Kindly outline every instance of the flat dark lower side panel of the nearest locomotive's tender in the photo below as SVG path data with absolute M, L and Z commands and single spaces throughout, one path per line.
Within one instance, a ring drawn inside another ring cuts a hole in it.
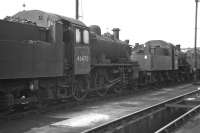
M 62 45 L 0 41 L 0 79 L 61 76 L 62 54 Z

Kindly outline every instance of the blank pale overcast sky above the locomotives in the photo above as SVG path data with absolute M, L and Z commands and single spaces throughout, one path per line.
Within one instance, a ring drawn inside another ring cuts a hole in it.
M 120 39 L 131 44 L 159 39 L 182 47 L 194 46 L 195 0 L 79 0 L 80 18 L 99 25 L 102 32 L 120 28 Z M 18 11 L 37 9 L 75 17 L 75 0 L 2 0 L 0 18 Z M 82 3 L 82 4 L 81 4 Z M 200 7 L 200 3 L 199 3 Z M 199 8 L 200 10 L 200 8 Z M 199 11 L 200 26 L 200 11 Z M 200 46 L 200 30 L 198 30 Z

